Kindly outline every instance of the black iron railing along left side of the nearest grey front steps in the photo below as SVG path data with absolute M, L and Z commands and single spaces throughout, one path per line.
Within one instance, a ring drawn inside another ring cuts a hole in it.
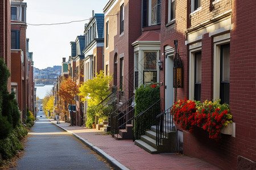
M 146 111 L 137 114 L 133 121 L 134 141 L 141 138 L 147 129 L 156 124 L 156 116 L 161 113 L 160 100 L 156 101 Z

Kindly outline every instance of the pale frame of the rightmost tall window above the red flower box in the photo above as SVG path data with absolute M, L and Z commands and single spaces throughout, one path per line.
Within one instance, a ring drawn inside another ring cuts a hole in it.
M 213 99 L 220 99 L 221 45 L 230 43 L 230 33 L 213 37 Z

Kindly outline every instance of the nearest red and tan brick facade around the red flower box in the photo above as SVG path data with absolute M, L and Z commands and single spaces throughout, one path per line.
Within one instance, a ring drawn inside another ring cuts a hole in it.
M 222 44 L 230 44 L 229 105 L 236 124 L 235 137 L 222 135 L 222 139 L 216 142 L 209 139 L 203 129 L 197 128 L 193 133 L 183 131 L 183 153 L 222 169 L 240 169 L 242 160 L 238 160 L 238 156 L 256 161 L 256 2 L 215 2 L 202 1 L 201 9 L 191 13 L 191 1 L 176 1 L 176 21 L 168 24 L 168 1 L 162 1 L 161 54 L 166 45 L 174 47 L 174 40 L 178 40 L 178 50 L 184 65 L 184 87 L 178 89 L 177 100 L 189 98 L 189 57 L 193 45 L 197 45 L 202 56 L 201 101 L 212 100 L 216 95 L 214 53 L 217 46 L 214 44 L 217 44 L 218 39 L 224 40 L 225 36 L 230 35 Z M 187 8 L 187 12 L 184 12 L 184 8 Z M 209 20 L 216 28 L 207 23 Z M 164 55 L 161 55 L 161 59 L 165 61 Z M 166 76 L 163 70 L 160 82 L 164 82 Z M 163 86 L 160 93 L 163 98 L 166 97 Z M 177 129 L 182 130 L 179 125 Z

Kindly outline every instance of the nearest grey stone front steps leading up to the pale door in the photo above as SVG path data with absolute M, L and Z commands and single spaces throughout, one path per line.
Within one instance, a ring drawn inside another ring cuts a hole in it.
M 143 148 L 150 154 L 176 152 L 177 151 L 176 131 L 167 133 L 167 138 L 161 139 L 160 145 L 156 146 L 156 127 L 151 126 L 151 130 L 147 130 L 140 140 L 135 140 L 135 145 Z

